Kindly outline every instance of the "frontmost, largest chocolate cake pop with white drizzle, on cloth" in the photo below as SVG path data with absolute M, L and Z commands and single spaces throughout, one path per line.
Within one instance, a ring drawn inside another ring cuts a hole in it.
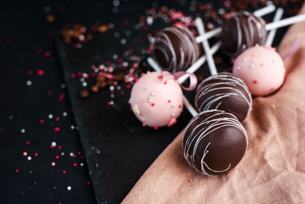
M 198 172 L 214 176 L 228 172 L 244 157 L 248 136 L 230 113 L 209 110 L 187 125 L 183 137 L 184 157 Z

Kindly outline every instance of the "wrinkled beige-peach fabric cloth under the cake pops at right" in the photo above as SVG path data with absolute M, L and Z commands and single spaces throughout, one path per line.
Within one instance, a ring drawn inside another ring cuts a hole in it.
M 182 132 L 123 203 L 305 203 L 305 22 L 290 27 L 279 51 L 285 53 L 297 37 L 301 45 L 285 60 L 282 88 L 253 100 L 244 122 L 248 150 L 234 169 L 214 177 L 196 172 L 184 159 Z

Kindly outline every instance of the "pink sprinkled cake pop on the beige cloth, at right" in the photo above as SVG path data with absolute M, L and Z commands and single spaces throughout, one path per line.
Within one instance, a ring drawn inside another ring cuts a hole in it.
M 255 96 L 266 96 L 279 89 L 285 73 L 281 56 L 274 48 L 267 46 L 248 48 L 233 65 L 233 74 L 244 80 Z

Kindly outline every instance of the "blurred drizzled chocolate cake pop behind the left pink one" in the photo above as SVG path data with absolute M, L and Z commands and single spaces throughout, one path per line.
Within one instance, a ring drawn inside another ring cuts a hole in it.
M 201 55 L 191 31 L 177 27 L 167 27 L 156 34 L 152 54 L 163 70 L 172 72 L 187 69 Z

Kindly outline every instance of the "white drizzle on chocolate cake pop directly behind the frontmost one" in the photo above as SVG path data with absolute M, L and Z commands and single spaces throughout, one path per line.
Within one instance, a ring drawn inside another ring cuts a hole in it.
M 212 82 L 213 80 L 220 80 L 221 82 Z M 220 87 L 217 87 L 220 86 Z M 211 92 L 223 90 L 222 93 L 211 94 Z M 227 90 L 225 92 L 225 90 Z M 243 90 L 243 91 L 241 91 Z M 205 99 L 206 95 L 211 96 Z M 221 72 L 218 75 L 210 76 L 201 82 L 196 90 L 195 107 L 199 112 L 209 110 L 211 106 L 218 107 L 220 100 L 224 98 L 236 96 L 241 97 L 248 103 L 248 112 L 246 118 L 252 110 L 252 97 L 247 85 L 238 77 L 231 73 Z M 204 99 L 204 101 L 202 101 Z

